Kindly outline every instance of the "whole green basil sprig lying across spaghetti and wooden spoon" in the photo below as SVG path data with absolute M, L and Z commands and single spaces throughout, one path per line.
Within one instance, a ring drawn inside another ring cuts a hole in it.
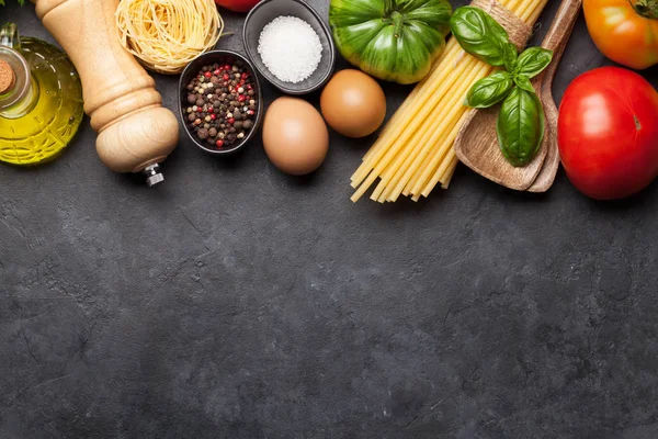
M 544 139 L 544 109 L 531 78 L 540 75 L 553 60 L 553 52 L 530 47 L 521 55 L 507 31 L 479 8 L 455 10 L 450 29 L 468 54 L 494 67 L 504 67 L 477 81 L 468 91 L 465 104 L 487 109 L 502 102 L 497 134 L 502 155 L 512 166 L 532 161 Z

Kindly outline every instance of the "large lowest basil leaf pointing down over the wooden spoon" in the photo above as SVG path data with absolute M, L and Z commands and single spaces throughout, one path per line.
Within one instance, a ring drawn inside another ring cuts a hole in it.
M 525 166 L 537 154 L 544 139 L 544 109 L 537 95 L 514 87 L 502 102 L 498 115 L 498 143 L 513 166 Z

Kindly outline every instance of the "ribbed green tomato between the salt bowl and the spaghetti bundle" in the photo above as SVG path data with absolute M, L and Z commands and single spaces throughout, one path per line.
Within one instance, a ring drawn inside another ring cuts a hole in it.
M 413 83 L 445 48 L 449 0 L 331 0 L 336 46 L 352 65 L 376 78 Z

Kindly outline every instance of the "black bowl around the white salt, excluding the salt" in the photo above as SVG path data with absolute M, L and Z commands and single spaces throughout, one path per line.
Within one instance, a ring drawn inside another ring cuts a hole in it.
M 284 82 L 268 70 L 258 53 L 258 41 L 263 27 L 280 15 L 296 16 L 307 22 L 320 37 L 322 59 L 317 70 L 306 80 L 297 83 Z M 245 20 L 242 31 L 245 49 L 260 74 L 279 90 L 288 94 L 306 94 L 322 87 L 333 72 L 336 46 L 329 27 L 320 15 L 303 0 L 263 0 L 256 5 Z

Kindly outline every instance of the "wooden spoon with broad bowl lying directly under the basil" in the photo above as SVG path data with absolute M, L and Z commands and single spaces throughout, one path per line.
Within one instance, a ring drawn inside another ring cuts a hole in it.
M 581 3 L 582 0 L 563 0 L 553 24 L 544 38 L 542 47 L 548 50 L 558 52 L 559 48 L 563 48 L 563 46 L 566 45 L 566 42 L 574 30 L 574 23 L 580 11 Z M 558 56 L 554 57 L 552 65 L 557 65 L 559 63 L 561 53 L 556 55 Z M 552 71 L 551 76 L 546 75 L 548 71 Z M 532 80 L 533 87 L 540 99 L 543 101 L 545 109 L 547 106 L 546 102 L 544 102 L 546 95 L 542 93 L 542 90 L 551 90 L 555 71 L 555 69 L 548 67 Z M 553 98 L 549 98 L 548 103 L 555 106 Z M 557 117 L 554 121 L 555 123 L 552 123 L 551 121 L 546 122 L 546 135 L 544 136 L 544 142 L 535 158 L 527 166 L 513 167 L 506 160 L 500 151 L 500 146 L 498 145 L 496 123 L 499 111 L 499 105 L 486 110 L 473 110 L 455 139 L 455 153 L 464 165 L 468 166 L 480 176 L 506 188 L 525 191 L 537 179 L 548 150 L 553 148 L 549 144 L 554 143 L 554 147 L 557 149 L 557 138 L 555 135 Z M 555 158 L 552 157 L 552 159 Z M 547 178 L 543 179 L 545 182 L 548 180 L 549 179 Z M 545 187 L 546 183 L 542 185 Z

